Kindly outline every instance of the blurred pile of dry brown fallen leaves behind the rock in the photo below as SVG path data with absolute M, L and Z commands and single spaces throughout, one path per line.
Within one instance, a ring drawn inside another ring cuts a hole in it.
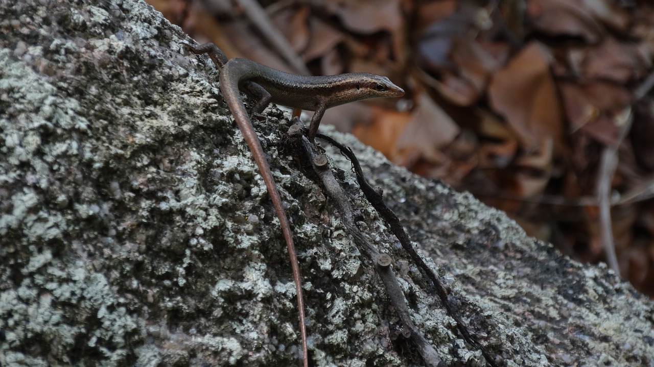
M 389 159 L 654 296 L 654 5 L 637 0 L 148 0 L 228 57 L 374 72 L 328 110 Z

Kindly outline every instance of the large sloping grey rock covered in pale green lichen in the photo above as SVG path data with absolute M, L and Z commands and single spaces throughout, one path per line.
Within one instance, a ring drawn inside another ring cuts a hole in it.
M 266 187 L 216 71 L 141 1 L 0 2 L 0 366 L 300 365 Z M 385 290 L 285 144 L 256 121 L 300 255 L 316 366 L 421 365 Z M 505 366 L 654 366 L 650 300 L 351 136 L 471 332 Z M 330 154 L 449 366 L 483 366 Z

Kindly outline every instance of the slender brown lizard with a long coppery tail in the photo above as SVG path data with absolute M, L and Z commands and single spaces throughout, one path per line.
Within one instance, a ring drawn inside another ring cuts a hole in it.
M 254 131 L 249 115 L 245 110 L 240 91 L 250 97 L 258 98 L 252 108 L 253 113 L 260 113 L 269 103 L 282 104 L 300 110 L 315 111 L 309 123 L 308 138 L 313 142 L 318 132 L 318 125 L 327 108 L 354 101 L 377 97 L 401 97 L 404 90 L 388 80 L 386 76 L 368 72 L 351 72 L 328 76 L 305 76 L 279 71 L 249 59 L 227 59 L 215 44 L 209 42 L 193 46 L 183 42 L 194 54 L 207 54 L 220 69 L 220 92 L 230 108 L 230 112 L 239 127 L 254 161 L 259 168 L 266 189 L 277 212 L 288 255 L 290 257 L 296 298 L 300 318 L 303 364 L 308 367 L 307 332 L 305 327 L 304 302 L 302 297 L 300 265 L 296 255 L 293 235 L 290 230 L 286 212 L 273 174 L 266 161 L 266 155 L 259 138 Z

